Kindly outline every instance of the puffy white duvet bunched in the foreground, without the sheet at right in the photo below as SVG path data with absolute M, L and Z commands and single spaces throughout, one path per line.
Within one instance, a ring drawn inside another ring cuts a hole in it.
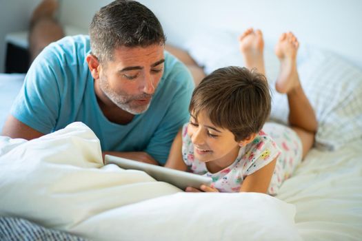
M 142 171 L 103 167 L 81 123 L 0 139 L 0 214 L 94 240 L 299 240 L 294 205 L 258 193 L 183 193 Z M 283 232 L 278 230 L 283 229 Z

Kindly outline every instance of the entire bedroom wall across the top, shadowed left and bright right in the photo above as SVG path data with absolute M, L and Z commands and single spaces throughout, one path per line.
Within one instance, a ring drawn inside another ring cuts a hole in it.
M 0 0 L 0 72 L 6 32 L 26 30 L 40 0 Z M 88 29 L 94 12 L 111 0 L 62 0 L 61 22 Z M 360 0 L 140 0 L 159 17 L 168 41 L 183 46 L 203 28 L 242 32 L 253 26 L 276 39 L 292 30 L 301 44 L 333 50 L 362 67 Z

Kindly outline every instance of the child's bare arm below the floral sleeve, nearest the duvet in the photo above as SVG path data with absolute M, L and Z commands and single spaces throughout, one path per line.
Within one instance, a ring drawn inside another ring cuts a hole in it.
M 276 158 L 243 180 L 240 191 L 266 193 L 272 179 Z

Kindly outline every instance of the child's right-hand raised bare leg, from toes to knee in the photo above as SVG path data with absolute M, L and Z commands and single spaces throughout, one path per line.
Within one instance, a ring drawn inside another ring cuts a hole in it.
M 301 138 L 304 157 L 314 143 L 317 122 L 296 70 L 298 47 L 299 42 L 291 32 L 282 34 L 279 43 L 276 44 L 275 53 L 281 61 L 276 90 L 288 96 L 289 123 Z

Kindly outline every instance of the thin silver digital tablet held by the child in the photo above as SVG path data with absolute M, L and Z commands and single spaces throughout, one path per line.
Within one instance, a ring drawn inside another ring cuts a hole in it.
M 161 182 L 168 182 L 182 190 L 185 190 L 186 187 L 200 189 L 201 185 L 205 184 L 210 186 L 212 182 L 212 178 L 207 176 L 200 176 L 186 171 L 170 169 L 168 167 L 141 163 L 136 160 L 120 158 L 118 156 L 105 155 L 104 163 L 115 164 L 123 169 L 145 171 L 148 175 L 152 176 L 152 178 Z

